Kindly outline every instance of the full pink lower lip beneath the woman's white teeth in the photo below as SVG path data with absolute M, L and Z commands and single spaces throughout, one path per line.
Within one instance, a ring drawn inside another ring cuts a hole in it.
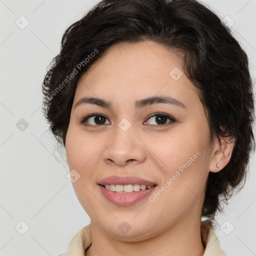
M 113 192 L 113 191 L 107 190 L 103 185 L 99 185 L 99 187 L 101 189 L 102 194 L 110 202 L 121 205 L 121 206 L 128 206 L 128 205 L 134 204 L 135 202 L 149 195 L 155 189 L 156 186 L 152 186 L 149 189 L 134 191 L 130 193 Z

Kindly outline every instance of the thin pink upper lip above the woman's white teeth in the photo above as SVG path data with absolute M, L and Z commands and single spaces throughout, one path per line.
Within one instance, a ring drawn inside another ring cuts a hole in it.
M 99 185 L 107 185 L 107 184 L 120 184 L 120 185 L 128 185 L 128 184 L 140 184 L 140 185 L 157 185 L 156 182 L 151 182 L 149 180 L 135 177 L 135 176 L 108 176 L 100 181 L 98 181 Z

